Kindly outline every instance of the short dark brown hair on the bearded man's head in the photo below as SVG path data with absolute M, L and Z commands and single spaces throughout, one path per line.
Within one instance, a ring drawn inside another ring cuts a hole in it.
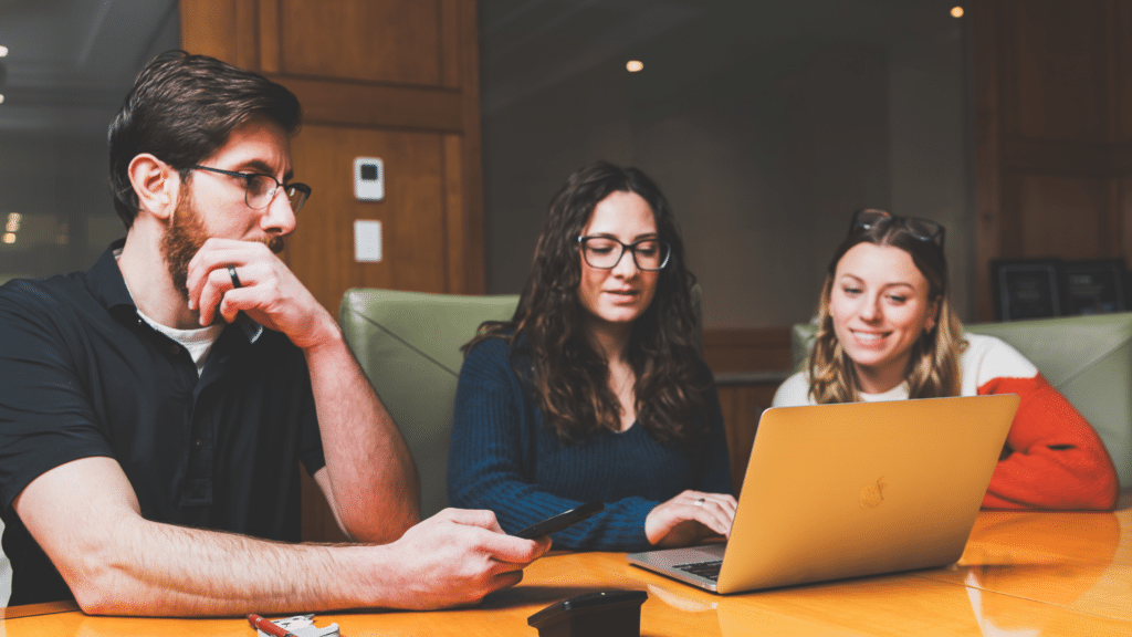
M 293 93 L 259 74 L 185 51 L 157 56 L 138 75 L 108 133 L 110 186 L 126 228 L 140 210 L 129 177 L 134 158 L 149 153 L 187 181 L 190 165 L 211 156 L 232 130 L 258 116 L 294 135 L 302 109 Z

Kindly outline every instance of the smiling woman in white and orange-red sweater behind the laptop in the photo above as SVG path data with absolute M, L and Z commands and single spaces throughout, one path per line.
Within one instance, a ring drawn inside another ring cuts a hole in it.
M 927 219 L 858 211 L 830 261 L 809 365 L 782 383 L 774 406 L 1017 393 L 983 506 L 1112 509 L 1116 469 L 1084 417 L 1017 349 L 963 333 L 943 237 Z

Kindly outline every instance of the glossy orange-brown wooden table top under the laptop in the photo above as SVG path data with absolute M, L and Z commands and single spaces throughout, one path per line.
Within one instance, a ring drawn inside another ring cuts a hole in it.
M 524 635 L 526 618 L 582 593 L 649 593 L 643 636 L 1132 635 L 1132 491 L 1115 513 L 984 511 L 959 563 L 935 570 L 718 596 L 631 567 L 620 553 L 543 558 L 472 610 L 324 613 L 343 637 Z M 0 636 L 254 637 L 242 619 L 87 617 L 72 603 L 0 610 Z

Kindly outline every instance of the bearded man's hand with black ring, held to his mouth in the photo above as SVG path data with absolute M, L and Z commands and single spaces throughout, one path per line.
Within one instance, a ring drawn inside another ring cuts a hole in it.
M 240 280 L 235 287 L 229 266 Z M 336 338 L 334 317 L 264 244 L 212 238 L 189 262 L 189 309 L 209 325 L 218 313 L 231 323 L 245 312 L 283 332 L 302 349 Z

